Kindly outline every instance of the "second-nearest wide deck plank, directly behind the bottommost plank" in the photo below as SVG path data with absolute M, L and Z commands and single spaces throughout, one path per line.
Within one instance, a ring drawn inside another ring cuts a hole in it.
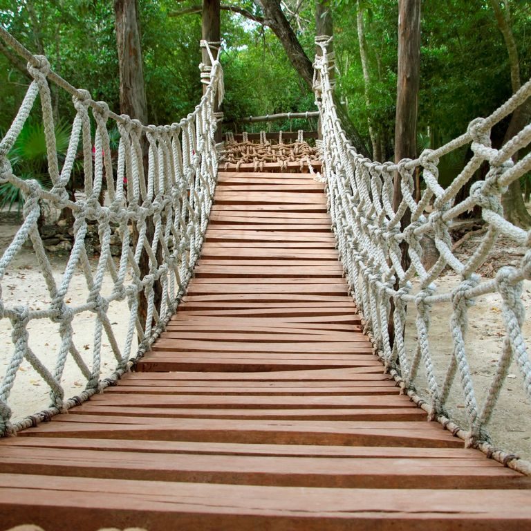
M 35 449 L 28 458 L 24 449 L 11 447 L 0 456 L 4 474 L 26 473 L 57 476 L 91 476 L 142 481 L 187 481 L 233 485 L 281 485 L 339 488 L 518 488 L 531 479 L 479 457 L 454 459 L 404 458 L 389 461 L 322 457 L 183 456 L 171 461 L 160 454 L 65 449 Z

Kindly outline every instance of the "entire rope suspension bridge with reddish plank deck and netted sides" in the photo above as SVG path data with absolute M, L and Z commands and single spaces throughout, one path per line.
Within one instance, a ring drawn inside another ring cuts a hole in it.
M 531 397 L 521 330 L 530 233 L 507 223 L 500 203 L 505 187 L 531 169 L 530 154 L 512 161 L 530 144 L 531 125 L 501 149 L 489 139 L 493 125 L 531 95 L 531 82 L 448 145 L 417 160 L 380 163 L 359 156 L 337 120 L 327 39 L 317 39 L 322 140 L 315 150 L 303 133 L 297 142 L 274 143 L 263 134 L 259 144 L 233 136 L 216 144 L 223 77 L 216 46 L 205 41 L 211 67 L 201 103 L 180 122 L 153 127 L 115 115 L 50 71 L 46 58 L 1 36 L 28 60 L 34 81 L 0 142 L 1 181 L 25 197 L 24 221 L 0 259 L 0 279 L 30 241 L 51 301 L 36 309 L 6 295 L 1 300 L 1 317 L 12 328 L 0 387 L 2 529 L 520 530 L 530 524 L 530 465 L 494 447 L 488 425 L 510 366 Z M 50 83 L 71 93 L 75 108 L 61 164 Z M 17 176 L 8 157 L 37 96 L 50 189 Z M 108 122 L 120 131 L 115 167 Z M 471 160 L 441 187 L 438 158 L 464 145 Z M 80 156 L 86 199 L 73 201 L 66 186 Z M 485 180 L 456 203 L 485 164 Z M 426 183 L 420 201 L 413 198 L 417 170 Z M 393 209 L 396 173 L 403 199 Z M 100 201 L 104 188 L 107 204 Z M 37 227 L 43 201 L 70 209 L 75 219 L 59 281 Z M 487 230 L 463 261 L 452 252 L 449 231 L 475 205 Z M 407 212 L 411 221 L 402 227 Z M 84 245 L 89 223 L 100 234 L 95 266 Z M 117 260 L 111 227 L 121 240 Z M 429 268 L 422 262 L 425 235 L 438 250 Z M 521 246 L 521 263 L 483 278 L 477 271 L 502 235 Z M 147 271 L 139 266 L 142 253 Z M 449 292 L 437 286 L 445 268 L 460 279 Z M 76 306 L 67 294 L 79 271 L 88 297 Z M 111 290 L 103 288 L 106 275 Z M 492 380 L 478 390 L 467 362 L 467 315 L 474 300 L 492 292 L 503 301 L 505 337 L 492 354 Z M 115 337 L 109 319 L 117 301 L 129 308 L 122 316 L 126 337 Z M 440 304 L 452 307 L 453 350 L 443 361 L 429 341 L 430 317 Z M 84 313 L 94 319 L 90 360 L 74 334 Z M 406 348 L 411 314 L 412 351 Z M 30 344 L 39 319 L 57 324 L 53 366 Z M 131 351 L 135 335 L 137 352 Z M 115 367 L 102 377 L 104 340 Z M 20 417 L 10 393 L 24 360 L 50 389 L 50 407 Z M 86 380 L 73 398 L 62 386 L 68 363 Z M 451 416 L 454 393 L 463 397 L 464 424 Z

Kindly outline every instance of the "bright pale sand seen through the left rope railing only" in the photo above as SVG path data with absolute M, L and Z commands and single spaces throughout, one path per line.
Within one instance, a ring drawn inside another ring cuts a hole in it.
M 0 252 L 7 247 L 18 230 L 19 225 L 14 216 L 5 212 L 0 213 Z M 56 283 L 59 283 L 66 268 L 68 255 L 50 254 L 53 265 L 53 274 Z M 93 271 L 97 265 L 97 257 L 91 259 Z M 113 282 L 110 274 L 106 274 L 103 284 L 103 294 L 111 292 Z M 32 248 L 24 247 L 12 261 L 6 275 L 1 282 L 2 297 L 6 306 L 28 305 L 34 310 L 44 310 L 50 304 L 50 294 L 46 288 L 44 277 L 41 274 L 35 252 Z M 80 306 L 88 297 L 88 288 L 84 274 L 75 273 L 71 286 L 66 296 L 67 304 Z M 124 347 L 124 338 L 127 334 L 127 319 L 129 308 L 127 302 L 113 303 L 109 307 L 109 319 L 113 325 L 115 338 L 120 349 Z M 89 368 L 92 366 L 92 350 L 94 342 L 95 315 L 85 312 L 75 317 L 73 322 L 74 344 L 83 355 L 84 362 Z M 59 352 L 60 336 L 59 325 L 50 319 L 35 319 L 28 325 L 29 345 L 32 351 L 44 362 L 47 369 L 53 373 L 57 353 Z M 11 339 L 12 327 L 8 319 L 0 320 L 0 381 L 6 375 L 6 369 L 14 352 Z M 136 353 L 135 344 L 131 353 Z M 100 375 L 104 378 L 113 372 L 116 360 L 109 346 L 109 338 L 102 339 L 102 363 Z M 62 385 L 66 398 L 71 398 L 83 391 L 86 380 L 71 356 L 68 356 L 64 368 Z M 31 390 L 31 392 L 28 392 Z M 16 421 L 24 416 L 46 409 L 50 405 L 48 385 L 33 369 L 27 360 L 22 362 L 15 378 L 15 384 L 10 393 L 8 403 L 13 411 L 12 420 Z

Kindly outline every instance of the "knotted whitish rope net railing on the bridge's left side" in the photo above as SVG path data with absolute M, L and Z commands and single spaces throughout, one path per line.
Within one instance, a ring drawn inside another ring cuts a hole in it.
M 214 57 L 218 45 L 201 41 L 212 64 L 207 68 L 201 65 L 201 77 L 207 83 L 201 102 L 180 122 L 146 125 L 127 115 L 111 112 L 105 102 L 95 102 L 88 91 L 62 80 L 50 70 L 46 57 L 30 54 L 3 28 L 0 28 L 0 37 L 28 60 L 28 72 L 33 78 L 12 126 L 0 142 L 0 183 L 10 183 L 24 194 L 24 221 L 0 258 L 0 288 L 17 253 L 30 242 L 50 297 L 47 308 L 34 309 L 2 297 L 0 290 L 0 323 L 9 320 L 12 330 L 12 355 L 5 373 L 0 373 L 0 436 L 5 436 L 64 412 L 115 384 L 149 350 L 174 314 L 201 251 L 212 206 L 218 165 L 214 141 L 218 113 L 214 113 L 214 103 L 223 99 L 223 71 L 217 56 Z M 50 82 L 72 95 L 75 109 L 70 142 L 62 164 L 55 145 Z M 17 176 L 10 162 L 10 151 L 24 123 L 30 112 L 35 113 L 37 96 L 41 101 L 48 174 L 52 183 L 48 190 L 37 180 Z M 120 133 L 115 169 L 108 122 Z M 95 124 L 94 138 L 91 137 L 91 124 Z M 84 198 L 74 201 L 67 186 L 75 161 L 79 159 L 84 174 Z M 108 194 L 108 204 L 101 201 L 104 190 Z M 44 202 L 55 209 L 70 210 L 75 220 L 73 248 L 59 281 L 53 276 L 50 257 L 37 227 Z M 147 231 L 149 223 L 153 227 L 152 237 Z M 95 268 L 84 243 L 90 224 L 97 224 L 101 244 Z M 110 252 L 111 229 L 120 237 L 121 253 L 116 261 Z M 136 241 L 131 232 L 138 234 Z M 143 252 L 149 258 L 147 273 L 141 272 L 138 265 Z M 76 272 L 84 275 L 88 291 L 86 301 L 77 305 L 66 297 Z M 102 288 L 106 276 L 112 282 L 108 293 Z M 161 291 L 158 303 L 156 288 Z M 138 314 L 141 294 L 147 301 L 147 315 L 142 321 Z M 109 306 L 120 301 L 128 308 L 121 316 L 127 323 L 127 337 L 123 338 L 115 337 L 108 315 Z M 74 337 L 76 319 L 86 313 L 94 318 L 90 362 Z M 57 324 L 60 347 L 54 354 L 53 368 L 30 346 L 28 328 L 39 320 Z M 139 338 L 138 352 L 132 353 L 135 334 Z M 104 340 L 111 348 L 115 366 L 109 375 L 101 378 Z M 10 393 L 24 360 L 32 365 L 39 382 L 48 386 L 50 407 L 12 422 Z M 75 362 L 86 382 L 84 391 L 74 398 L 66 398 L 62 385 L 67 360 Z

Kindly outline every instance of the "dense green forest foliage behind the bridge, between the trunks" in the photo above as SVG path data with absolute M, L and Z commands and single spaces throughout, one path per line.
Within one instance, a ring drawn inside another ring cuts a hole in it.
M 222 6 L 225 121 L 314 110 L 308 84 L 291 66 L 274 33 L 261 22 L 263 5 L 259 1 L 227 0 Z M 398 1 L 331 0 L 329 6 L 334 20 L 338 100 L 368 153 L 378 160 L 392 160 Z M 313 59 L 315 3 L 282 0 L 281 7 L 306 55 Z M 496 8 L 514 38 L 513 50 L 502 35 Z M 192 111 L 201 97 L 201 6 L 194 0 L 140 0 L 138 15 L 149 122 L 176 122 Z M 120 109 L 111 0 L 0 0 L 0 24 L 32 53 L 46 55 L 53 70 L 68 82 L 88 89 L 93 99 L 105 100 L 111 109 Z M 6 131 L 30 80 L 24 62 L 3 45 L 0 51 L 0 131 Z M 490 114 L 510 97 L 514 88 L 511 54 L 516 57 L 519 78 L 525 82 L 531 76 L 530 1 L 422 1 L 419 153 L 460 135 L 472 119 Z M 68 138 L 71 99 L 59 90 L 53 97 L 57 129 L 59 134 L 64 129 Z M 276 127 L 297 129 L 304 125 L 294 121 L 280 122 Z M 492 131 L 494 145 L 501 145 L 508 125 L 509 120 L 505 120 Z M 26 140 L 26 151 L 39 143 Z M 458 150 L 441 162 L 441 184 L 449 184 L 467 156 L 466 151 Z M 527 194 L 530 180 L 528 175 L 521 182 Z

